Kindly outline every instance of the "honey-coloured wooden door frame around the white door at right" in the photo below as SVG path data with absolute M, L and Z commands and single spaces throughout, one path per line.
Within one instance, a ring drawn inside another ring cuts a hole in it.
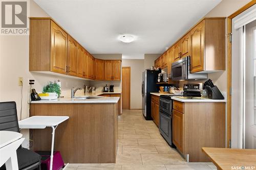
M 238 16 L 248 8 L 252 7 L 256 4 L 256 0 L 252 0 L 242 8 L 240 8 L 238 11 L 234 12 L 230 16 L 227 17 L 227 140 L 226 140 L 226 146 L 227 148 L 231 147 L 231 61 L 232 61 L 232 55 L 231 55 L 231 49 L 232 49 L 232 43 L 229 41 L 229 37 L 232 36 L 232 18 Z

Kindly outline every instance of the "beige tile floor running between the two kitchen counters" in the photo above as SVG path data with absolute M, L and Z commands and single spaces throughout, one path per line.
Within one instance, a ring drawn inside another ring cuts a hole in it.
M 123 110 L 118 121 L 116 163 L 69 164 L 66 170 L 217 170 L 212 163 L 187 163 L 170 148 L 140 110 Z

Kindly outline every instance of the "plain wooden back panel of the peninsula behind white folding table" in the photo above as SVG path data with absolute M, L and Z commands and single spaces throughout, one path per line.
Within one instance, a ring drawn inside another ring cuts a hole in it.
M 30 116 L 37 115 L 69 116 L 58 125 L 54 141 L 54 150 L 60 151 L 65 163 L 116 163 L 117 104 L 31 104 Z M 51 128 L 30 133 L 34 151 L 51 150 Z

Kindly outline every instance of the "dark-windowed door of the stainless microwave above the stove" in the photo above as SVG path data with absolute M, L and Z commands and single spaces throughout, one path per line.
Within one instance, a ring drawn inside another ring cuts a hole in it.
M 173 81 L 186 80 L 187 79 L 187 61 L 177 62 L 172 66 L 171 79 Z

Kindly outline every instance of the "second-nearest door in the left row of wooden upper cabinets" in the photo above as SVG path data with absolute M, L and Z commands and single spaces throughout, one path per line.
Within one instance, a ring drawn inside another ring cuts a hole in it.
M 78 43 L 68 35 L 68 75 L 77 76 Z

